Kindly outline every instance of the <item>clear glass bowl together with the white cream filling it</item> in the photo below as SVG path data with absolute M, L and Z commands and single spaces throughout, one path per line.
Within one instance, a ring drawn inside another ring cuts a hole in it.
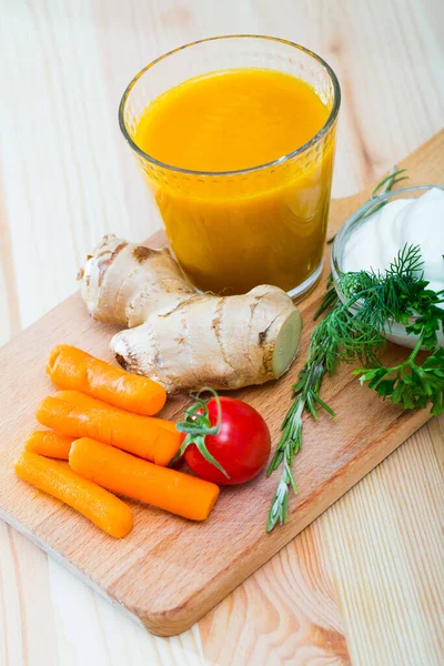
M 379 202 L 384 205 L 374 213 Z M 435 292 L 444 290 L 444 186 L 422 185 L 375 196 L 349 218 L 332 249 L 332 272 L 337 294 L 341 273 L 384 272 L 405 245 L 418 245 L 421 272 Z M 359 303 L 352 310 L 359 309 Z M 444 309 L 444 303 L 438 305 Z M 417 336 L 408 335 L 403 324 L 387 322 L 387 340 L 414 347 Z M 444 346 L 444 332 L 438 333 Z

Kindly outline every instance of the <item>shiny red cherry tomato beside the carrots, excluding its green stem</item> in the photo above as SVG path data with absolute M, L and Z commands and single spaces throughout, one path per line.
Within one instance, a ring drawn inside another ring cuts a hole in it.
M 195 444 L 185 450 L 188 466 L 201 478 L 218 485 L 245 483 L 265 466 L 271 448 L 270 431 L 262 416 L 252 406 L 233 397 L 220 397 L 221 430 L 218 435 L 205 435 L 205 446 L 229 474 L 228 478 L 198 451 Z M 218 404 L 208 403 L 211 425 L 218 423 Z

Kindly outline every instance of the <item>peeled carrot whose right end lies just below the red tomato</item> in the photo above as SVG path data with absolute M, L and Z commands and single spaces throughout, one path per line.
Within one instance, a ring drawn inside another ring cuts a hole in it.
M 87 437 L 72 444 L 69 463 L 78 474 L 109 491 L 191 521 L 208 518 L 220 492 L 214 483 L 158 467 Z

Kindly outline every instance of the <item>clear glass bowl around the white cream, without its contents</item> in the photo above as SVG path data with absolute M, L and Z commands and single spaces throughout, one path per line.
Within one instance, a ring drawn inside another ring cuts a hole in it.
M 336 238 L 332 248 L 332 275 L 333 283 L 335 290 L 337 292 L 339 297 L 344 303 L 345 297 L 341 292 L 339 286 L 340 275 L 342 273 L 342 264 L 345 246 L 352 235 L 360 229 L 363 224 L 365 224 L 370 220 L 370 211 L 377 203 L 387 203 L 389 201 L 395 201 L 396 199 L 417 199 L 425 192 L 432 189 L 444 190 L 443 185 L 418 185 L 415 188 L 404 188 L 402 190 L 394 190 L 392 192 L 386 192 L 385 194 L 381 194 L 379 196 L 374 196 L 360 209 L 357 209 L 350 218 L 345 221 L 341 230 L 337 232 Z M 369 216 L 366 216 L 369 215 Z M 360 310 L 360 302 L 357 301 L 351 307 L 351 312 L 357 312 Z M 414 317 L 412 317 L 412 322 Z M 400 324 L 397 322 L 387 321 L 386 326 L 384 326 L 384 335 L 391 342 L 395 344 L 400 344 L 405 347 L 413 349 L 417 342 L 417 335 L 407 334 L 405 331 L 404 324 Z M 441 330 L 437 334 L 437 342 L 440 346 L 444 346 L 444 332 Z

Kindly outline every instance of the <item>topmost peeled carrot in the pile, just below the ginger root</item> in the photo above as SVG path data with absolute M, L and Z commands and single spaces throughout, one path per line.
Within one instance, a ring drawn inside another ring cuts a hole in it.
M 47 373 L 59 389 L 80 391 L 143 416 L 157 414 L 167 402 L 167 392 L 157 382 L 68 344 L 60 344 L 51 351 Z

